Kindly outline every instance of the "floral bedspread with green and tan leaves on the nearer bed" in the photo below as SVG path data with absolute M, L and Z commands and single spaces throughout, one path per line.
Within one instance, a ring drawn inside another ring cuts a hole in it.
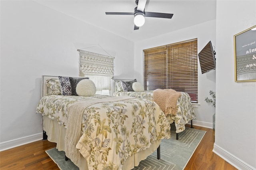
M 38 103 L 36 113 L 67 125 L 67 108 L 76 103 L 111 96 L 48 95 Z M 81 138 L 76 148 L 87 159 L 89 169 L 121 169 L 132 154 L 145 150 L 159 139 L 170 138 L 170 124 L 152 100 L 133 98 L 96 103 L 84 110 Z

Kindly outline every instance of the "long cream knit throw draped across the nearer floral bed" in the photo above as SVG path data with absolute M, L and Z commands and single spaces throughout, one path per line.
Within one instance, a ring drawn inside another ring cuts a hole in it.
M 67 108 L 68 113 L 68 123 L 65 136 L 65 154 L 72 162 L 76 165 L 80 161 L 80 152 L 76 149 L 76 144 L 82 136 L 82 117 L 84 110 L 96 103 L 121 101 L 126 99 L 133 99 L 134 97 L 110 97 L 104 99 L 89 99 L 85 101 L 78 101 Z

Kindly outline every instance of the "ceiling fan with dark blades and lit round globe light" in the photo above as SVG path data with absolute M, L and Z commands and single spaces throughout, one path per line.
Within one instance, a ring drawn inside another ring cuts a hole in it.
M 145 12 L 147 0 L 135 0 L 137 5 L 134 12 L 106 12 L 107 15 L 134 15 L 134 30 L 138 30 L 145 22 L 144 17 L 172 18 L 173 14 L 159 12 Z

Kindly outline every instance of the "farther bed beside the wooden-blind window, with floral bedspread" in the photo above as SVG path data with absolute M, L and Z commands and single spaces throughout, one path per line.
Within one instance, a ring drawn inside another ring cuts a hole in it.
M 136 82 L 136 79 L 112 79 L 111 81 L 111 93 L 112 96 L 130 96 L 139 97 L 153 100 L 153 91 L 123 91 L 120 87 L 120 81 L 124 82 Z M 129 86 L 129 84 L 128 84 Z M 131 88 L 131 87 L 130 87 Z M 194 109 L 192 107 L 191 98 L 188 93 L 180 92 L 181 96 L 176 103 L 176 115 L 166 115 L 170 124 L 174 123 L 176 127 L 176 139 L 178 134 L 185 130 L 185 125 L 191 121 L 191 128 L 193 128 L 192 119 L 196 118 Z

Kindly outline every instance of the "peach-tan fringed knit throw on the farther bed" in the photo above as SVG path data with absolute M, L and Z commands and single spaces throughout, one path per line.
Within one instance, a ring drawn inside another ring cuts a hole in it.
M 153 91 L 153 100 L 165 115 L 176 115 L 176 103 L 180 96 L 181 93 L 173 89 L 156 89 Z

